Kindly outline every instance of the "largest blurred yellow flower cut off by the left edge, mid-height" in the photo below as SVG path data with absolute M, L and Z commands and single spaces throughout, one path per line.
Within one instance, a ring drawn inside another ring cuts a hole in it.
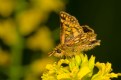
M 12 19 L 0 22 L 0 38 L 8 45 L 18 43 L 17 31 Z

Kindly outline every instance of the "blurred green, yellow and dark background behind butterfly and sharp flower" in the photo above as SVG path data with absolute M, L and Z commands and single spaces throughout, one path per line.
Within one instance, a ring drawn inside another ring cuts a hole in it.
M 120 0 L 0 0 L 0 80 L 40 80 L 59 43 L 59 12 L 98 34 L 101 46 L 86 53 L 121 72 Z M 113 80 L 121 80 L 118 79 Z

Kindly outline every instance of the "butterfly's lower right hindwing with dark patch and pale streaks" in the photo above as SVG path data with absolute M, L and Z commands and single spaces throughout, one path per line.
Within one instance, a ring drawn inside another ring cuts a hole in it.
M 69 45 L 70 47 L 75 47 L 76 51 L 87 51 L 95 46 L 100 45 L 100 40 L 96 39 L 97 34 L 94 33 L 94 30 L 91 29 L 87 25 L 81 26 L 83 28 L 84 33 L 70 39 L 68 43 L 73 43 L 73 45 Z

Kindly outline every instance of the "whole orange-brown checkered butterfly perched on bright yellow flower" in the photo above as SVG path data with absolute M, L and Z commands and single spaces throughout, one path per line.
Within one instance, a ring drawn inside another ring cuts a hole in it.
M 56 57 L 73 56 L 100 45 L 97 34 L 87 25 L 80 26 L 78 20 L 70 14 L 60 12 L 60 44 L 49 53 Z

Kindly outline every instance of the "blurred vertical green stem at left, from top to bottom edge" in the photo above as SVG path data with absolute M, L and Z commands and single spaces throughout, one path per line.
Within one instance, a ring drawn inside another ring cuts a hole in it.
M 17 6 L 15 10 L 15 18 L 16 16 L 24 10 L 26 4 L 25 0 L 17 0 Z M 24 39 L 19 31 L 19 24 L 16 22 L 16 34 L 17 34 L 17 43 L 11 46 L 11 66 L 10 66 L 10 78 L 9 80 L 20 80 L 22 77 L 22 53 L 24 48 Z

